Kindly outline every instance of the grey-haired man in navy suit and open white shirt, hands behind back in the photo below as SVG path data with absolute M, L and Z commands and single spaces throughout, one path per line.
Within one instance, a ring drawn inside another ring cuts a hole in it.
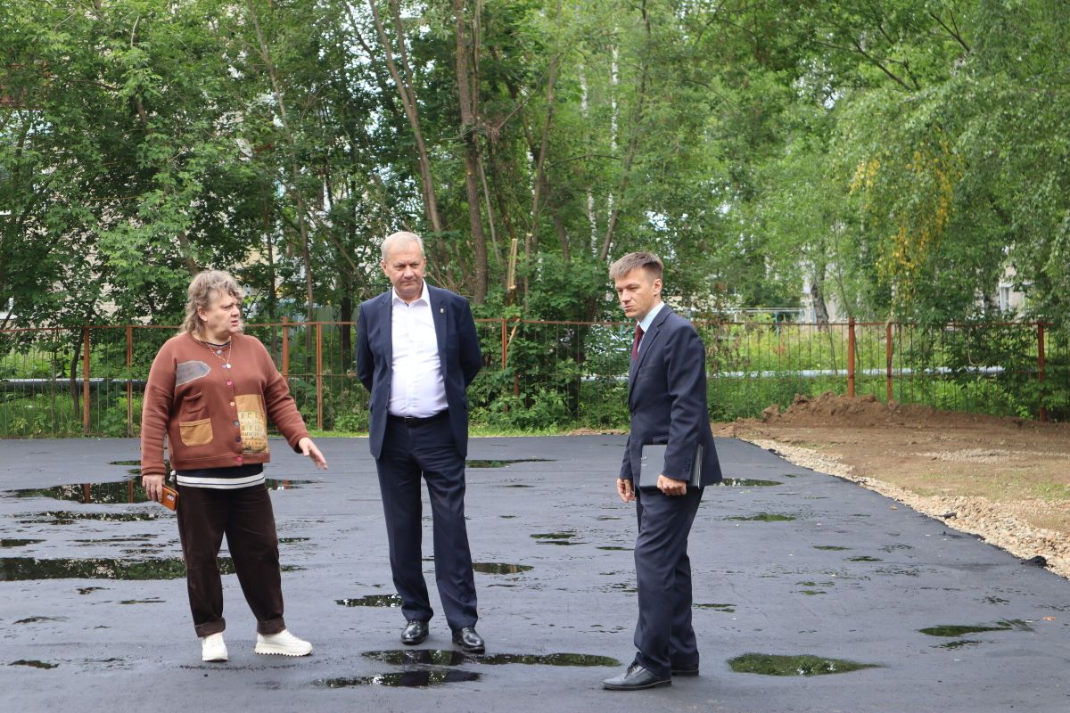
M 415 233 L 382 246 L 394 288 L 361 305 L 356 374 L 371 392 L 369 446 L 379 471 L 394 586 L 406 627 L 401 642 L 428 635 L 433 611 L 421 549 L 421 478 L 434 529 L 434 576 L 453 639 L 482 653 L 476 595 L 464 526 L 468 397 L 483 358 L 468 300 L 424 280 L 427 260 Z

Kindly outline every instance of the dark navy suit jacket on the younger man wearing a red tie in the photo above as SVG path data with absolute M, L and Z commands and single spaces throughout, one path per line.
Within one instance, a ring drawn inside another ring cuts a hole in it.
M 668 305 L 643 335 L 639 358 L 628 373 L 631 431 L 620 478 L 639 472 L 642 445 L 668 444 L 661 475 L 688 480 L 696 447 L 702 444 L 701 484 L 721 480 L 706 402 L 706 348 L 691 323 Z M 651 464 L 657 467 L 659 464 Z

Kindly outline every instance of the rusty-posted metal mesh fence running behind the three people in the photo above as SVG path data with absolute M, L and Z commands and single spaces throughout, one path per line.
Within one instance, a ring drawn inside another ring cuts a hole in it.
M 872 394 L 996 416 L 1070 419 L 1070 335 L 1036 323 L 694 323 L 710 418 L 795 394 Z M 624 428 L 632 323 L 479 320 L 473 423 Z M 355 323 L 250 324 L 310 428 L 367 429 Z M 174 327 L 0 330 L 0 437 L 136 435 L 149 367 Z M 1041 350 L 1041 342 L 1043 348 Z

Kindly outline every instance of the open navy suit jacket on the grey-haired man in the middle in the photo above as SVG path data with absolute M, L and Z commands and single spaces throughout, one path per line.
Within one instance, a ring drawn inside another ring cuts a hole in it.
M 468 300 L 448 290 L 427 285 L 439 341 L 439 360 L 446 385 L 449 425 L 461 458 L 468 455 L 468 396 L 465 389 L 479 373 L 483 356 Z M 371 392 L 368 435 L 371 455 L 379 458 L 391 401 L 393 291 L 361 304 L 356 323 L 356 376 Z

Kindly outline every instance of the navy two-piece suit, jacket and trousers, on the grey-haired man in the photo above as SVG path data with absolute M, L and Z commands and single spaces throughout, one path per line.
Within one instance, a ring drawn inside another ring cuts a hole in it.
M 421 478 L 427 482 L 434 537 L 434 574 L 453 629 L 474 626 L 472 555 L 464 525 L 464 458 L 468 455 L 465 389 L 483 358 L 468 300 L 427 285 L 439 344 L 447 409 L 438 418 L 406 422 L 389 416 L 393 291 L 363 303 L 356 326 L 356 374 L 371 392 L 369 447 L 383 497 L 394 585 L 406 619 L 433 615 L 424 580 Z

